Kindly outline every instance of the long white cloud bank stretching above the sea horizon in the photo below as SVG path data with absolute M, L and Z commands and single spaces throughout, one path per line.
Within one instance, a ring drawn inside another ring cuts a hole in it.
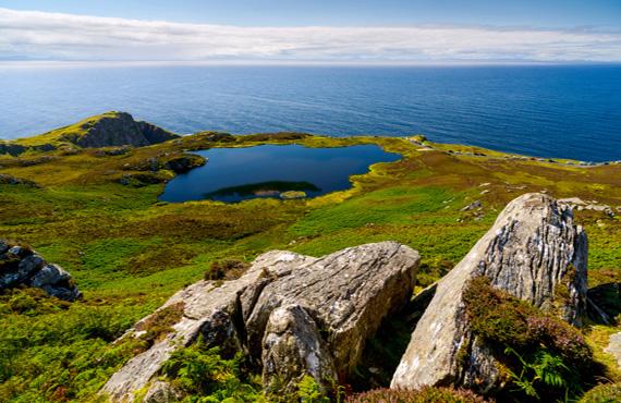
M 621 33 L 483 26 L 240 27 L 0 9 L 0 60 L 621 61 Z

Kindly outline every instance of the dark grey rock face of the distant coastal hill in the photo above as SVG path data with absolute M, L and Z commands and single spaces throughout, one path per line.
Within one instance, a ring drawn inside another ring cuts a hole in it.
M 81 127 L 84 134 L 66 135 L 65 139 L 80 147 L 97 148 L 110 146 L 142 147 L 163 143 L 178 136 L 146 122 L 136 122 L 130 113 L 115 112 L 95 123 Z

